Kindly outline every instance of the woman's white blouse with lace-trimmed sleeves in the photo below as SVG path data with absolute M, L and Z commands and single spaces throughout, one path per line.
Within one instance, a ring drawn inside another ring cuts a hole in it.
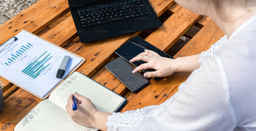
M 200 55 L 170 99 L 113 113 L 109 130 L 256 130 L 256 15 Z

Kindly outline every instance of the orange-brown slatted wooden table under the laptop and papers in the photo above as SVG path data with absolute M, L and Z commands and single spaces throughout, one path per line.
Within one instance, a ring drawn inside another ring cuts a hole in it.
M 114 50 L 133 36 L 140 36 L 171 56 L 199 54 L 216 43 L 224 33 L 207 16 L 201 16 L 177 5 L 174 0 L 150 0 L 163 26 L 129 33 L 91 43 L 80 43 L 67 0 L 40 0 L 0 26 L 0 43 L 23 29 L 34 33 L 86 59 L 77 69 L 127 99 L 121 112 L 163 103 L 175 94 L 190 73 L 174 73 L 155 81 L 137 94 L 131 93 L 103 67 L 117 57 Z M 182 41 L 181 36 L 191 40 Z M 2 79 L 2 78 L 0 78 Z M 42 100 L 2 79 L 5 109 L 0 114 L 0 129 L 14 130 L 16 124 Z

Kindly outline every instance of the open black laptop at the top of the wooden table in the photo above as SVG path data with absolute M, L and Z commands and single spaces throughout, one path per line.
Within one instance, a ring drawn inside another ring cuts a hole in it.
M 162 26 L 148 0 L 68 0 L 81 43 Z

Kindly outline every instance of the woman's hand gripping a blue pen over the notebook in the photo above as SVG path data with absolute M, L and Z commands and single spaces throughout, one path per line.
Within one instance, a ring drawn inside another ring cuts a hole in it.
M 73 111 L 73 96 L 76 96 L 77 110 Z M 77 124 L 87 127 L 93 127 L 100 130 L 108 130 L 106 122 L 108 122 L 108 116 L 112 113 L 100 112 L 95 107 L 95 105 L 90 101 L 90 99 L 85 98 L 82 95 L 71 94 L 68 98 L 68 103 L 66 105 L 67 112 L 71 119 Z

